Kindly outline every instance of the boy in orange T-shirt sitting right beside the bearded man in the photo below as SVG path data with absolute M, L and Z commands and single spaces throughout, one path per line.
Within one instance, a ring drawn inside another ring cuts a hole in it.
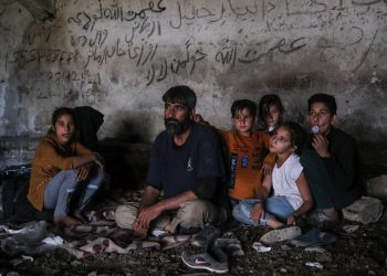
M 229 159 L 229 195 L 231 204 L 236 205 L 240 200 L 262 198 L 258 194 L 262 173 L 271 172 L 275 155 L 269 153 L 270 136 L 254 131 L 257 105 L 253 102 L 233 102 L 231 116 L 233 129 L 219 131 Z M 200 115 L 197 119 L 202 121 Z

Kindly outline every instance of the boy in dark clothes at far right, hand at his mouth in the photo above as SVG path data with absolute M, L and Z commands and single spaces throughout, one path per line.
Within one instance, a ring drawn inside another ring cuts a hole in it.
M 337 221 L 338 213 L 360 195 L 355 140 L 335 128 L 336 100 L 327 94 L 315 94 L 307 100 L 307 123 L 312 129 L 310 148 L 301 156 L 316 210 L 312 223 Z

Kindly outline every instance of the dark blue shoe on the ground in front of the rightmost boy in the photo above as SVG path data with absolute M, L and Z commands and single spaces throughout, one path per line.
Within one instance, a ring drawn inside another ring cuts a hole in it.
M 334 234 L 320 232 L 317 229 L 312 229 L 310 232 L 299 236 L 297 238 L 291 241 L 291 244 L 295 246 L 318 246 L 326 245 L 337 241 Z

